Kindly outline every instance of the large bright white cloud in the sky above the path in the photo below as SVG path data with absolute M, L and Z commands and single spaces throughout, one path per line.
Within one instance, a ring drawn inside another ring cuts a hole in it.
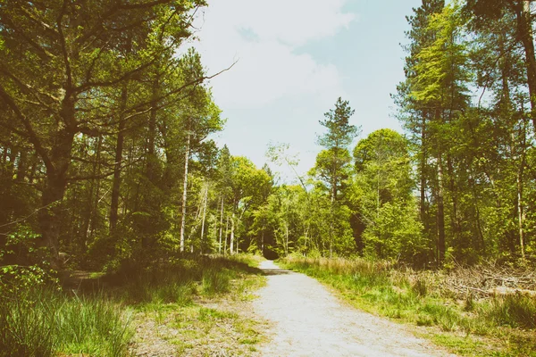
M 199 17 L 195 46 L 209 73 L 235 60 L 231 71 L 213 79 L 214 98 L 226 107 L 257 107 L 281 97 L 342 93 L 340 74 L 296 49 L 348 28 L 355 15 L 346 0 L 214 0 Z

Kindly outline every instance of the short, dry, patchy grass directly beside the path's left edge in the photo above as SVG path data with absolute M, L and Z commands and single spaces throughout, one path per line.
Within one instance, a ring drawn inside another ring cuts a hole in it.
M 156 300 L 138 303 L 137 326 L 144 330 L 141 339 L 157 339 L 172 346 L 175 353 L 191 355 L 248 355 L 263 340 L 262 323 L 244 312 L 243 303 L 251 300 L 253 292 L 264 285 L 260 270 L 252 268 L 256 260 L 251 256 L 234 256 L 203 265 L 195 288 L 190 291 L 190 303 Z M 216 269 L 214 264 L 219 265 Z M 195 275 L 197 265 L 189 264 Z M 155 327 L 150 321 L 155 321 Z M 138 336 L 140 337 L 140 336 Z

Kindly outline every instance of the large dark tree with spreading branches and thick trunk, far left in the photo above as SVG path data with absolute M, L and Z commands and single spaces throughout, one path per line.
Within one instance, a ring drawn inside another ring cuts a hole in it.
M 160 58 L 159 52 L 146 47 L 151 36 L 165 37 L 170 48 L 190 36 L 188 13 L 204 4 L 172 0 L 91 6 L 67 1 L 0 4 L 0 100 L 11 119 L 2 124 L 31 144 L 46 168 L 38 217 L 53 262 L 58 262 L 61 202 L 73 179 L 74 138 L 98 137 L 104 118 L 91 98 L 105 88 L 121 86 Z M 156 33 L 147 28 L 151 25 L 157 26 Z M 117 61 L 121 49 L 128 47 L 126 42 L 139 34 L 139 47 Z M 140 111 L 131 108 L 131 112 Z

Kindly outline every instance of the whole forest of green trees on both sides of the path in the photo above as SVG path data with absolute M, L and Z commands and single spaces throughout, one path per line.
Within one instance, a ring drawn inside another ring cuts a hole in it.
M 238 253 L 532 266 L 532 3 L 423 0 L 391 94 L 404 132 L 361 137 L 366 118 L 333 94 L 301 174 L 291 143 L 262 168 L 216 144 L 232 118 L 208 81 L 234 64 L 209 72 L 191 46 L 204 0 L 0 0 L 0 293 L 179 262 L 211 294 L 220 273 L 177 259 Z

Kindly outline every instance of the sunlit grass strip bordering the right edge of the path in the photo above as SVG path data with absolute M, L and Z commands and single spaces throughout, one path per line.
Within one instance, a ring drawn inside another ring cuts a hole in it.
M 287 269 L 335 287 L 364 311 L 428 328 L 429 338 L 466 356 L 536 356 L 536 298 L 457 300 L 431 272 L 362 259 L 288 258 Z

